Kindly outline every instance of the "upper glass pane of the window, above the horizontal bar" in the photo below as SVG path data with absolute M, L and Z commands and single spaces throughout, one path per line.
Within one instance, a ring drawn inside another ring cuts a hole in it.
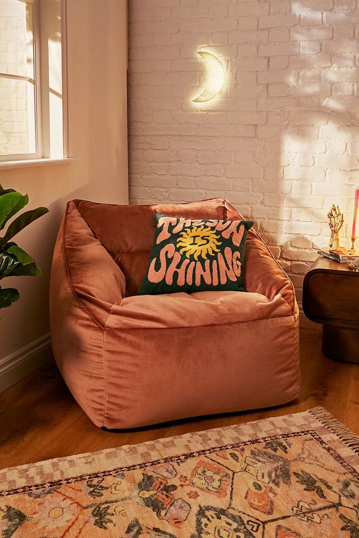
M 33 79 L 32 5 L 0 0 L 0 73 Z

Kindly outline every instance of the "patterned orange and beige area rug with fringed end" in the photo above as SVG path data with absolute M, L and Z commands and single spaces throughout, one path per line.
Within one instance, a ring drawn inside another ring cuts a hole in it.
M 318 407 L 0 471 L 0 536 L 358 538 L 358 471 Z

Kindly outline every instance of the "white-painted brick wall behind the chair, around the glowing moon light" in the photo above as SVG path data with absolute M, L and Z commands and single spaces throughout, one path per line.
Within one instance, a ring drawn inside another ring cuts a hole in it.
M 131 202 L 226 197 L 300 301 L 333 203 L 351 226 L 358 22 L 355 0 L 130 0 Z M 206 80 L 199 50 L 226 68 L 204 104 L 192 103 Z

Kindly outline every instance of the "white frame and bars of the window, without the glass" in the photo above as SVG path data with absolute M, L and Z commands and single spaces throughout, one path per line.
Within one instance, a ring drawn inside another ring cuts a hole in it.
M 16 164 L 35 164 L 35 161 L 59 162 L 68 159 L 68 114 L 67 114 L 67 48 L 66 48 L 66 0 L 59 0 L 61 9 L 61 96 L 62 96 L 62 155 L 53 158 L 50 154 L 50 106 L 45 104 L 45 84 L 48 74 L 41 69 L 41 58 L 48 56 L 45 46 L 41 46 L 41 0 L 18 0 L 25 4 L 32 4 L 32 33 L 33 33 L 33 60 L 34 60 L 34 79 L 29 76 L 11 75 L 0 73 L 0 77 L 12 80 L 24 80 L 32 82 L 34 85 L 34 107 L 35 107 L 35 153 L 15 153 L 0 155 L 0 168 L 2 166 L 12 166 Z M 47 40 L 45 40 L 47 42 Z M 41 91 L 43 87 L 43 91 Z M 49 91 L 50 88 L 49 88 Z M 47 125 L 45 126 L 45 117 Z M 42 164 L 42 163 L 41 163 Z

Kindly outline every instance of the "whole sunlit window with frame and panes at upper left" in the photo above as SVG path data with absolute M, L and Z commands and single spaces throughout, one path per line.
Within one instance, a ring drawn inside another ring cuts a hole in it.
M 67 157 L 64 0 L 0 0 L 0 161 Z

